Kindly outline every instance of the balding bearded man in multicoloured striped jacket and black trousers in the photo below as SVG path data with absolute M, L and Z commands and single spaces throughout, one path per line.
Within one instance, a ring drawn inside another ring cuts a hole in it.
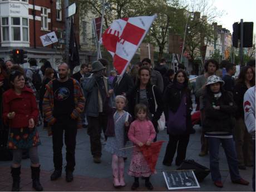
M 60 178 L 62 174 L 63 131 L 65 131 L 66 181 L 71 182 L 76 164 L 76 134 L 77 128 L 82 126 L 80 114 L 85 106 L 85 97 L 80 83 L 69 78 L 68 73 L 70 73 L 70 68 L 67 63 L 58 66 L 60 78 L 54 79 L 46 85 L 43 111 L 46 121 L 52 126 L 55 171 L 51 175 L 51 180 Z

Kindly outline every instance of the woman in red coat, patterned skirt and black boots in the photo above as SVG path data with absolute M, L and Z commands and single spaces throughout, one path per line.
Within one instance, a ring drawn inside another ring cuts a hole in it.
M 38 107 L 33 91 L 25 85 L 24 74 L 12 71 L 9 74 L 10 89 L 3 93 L 3 121 L 9 126 L 8 147 L 13 149 L 12 191 L 19 191 L 22 150 L 29 150 L 33 188 L 42 191 L 40 164 L 37 146 L 41 144 L 35 127 Z

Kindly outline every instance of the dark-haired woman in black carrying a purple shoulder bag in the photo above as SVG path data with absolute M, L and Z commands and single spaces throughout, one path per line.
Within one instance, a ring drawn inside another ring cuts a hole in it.
M 175 163 L 180 165 L 186 157 L 186 147 L 189 143 L 189 134 L 192 131 L 192 100 L 185 71 L 178 70 L 173 83 L 166 87 L 164 103 L 166 104 L 165 114 L 168 114 L 166 119 L 168 121 L 169 142 L 163 164 L 171 166 L 177 150 Z

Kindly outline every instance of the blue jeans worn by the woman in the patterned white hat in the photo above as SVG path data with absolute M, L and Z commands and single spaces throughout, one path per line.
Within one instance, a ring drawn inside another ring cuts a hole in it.
M 220 139 L 217 137 L 207 137 L 209 143 L 210 153 L 210 171 L 211 179 L 213 181 L 221 181 L 221 175 L 219 171 L 219 146 L 220 142 L 224 148 L 225 155 L 228 160 L 229 173 L 231 180 L 240 179 L 238 170 L 237 152 L 235 152 L 235 144 L 233 138 Z

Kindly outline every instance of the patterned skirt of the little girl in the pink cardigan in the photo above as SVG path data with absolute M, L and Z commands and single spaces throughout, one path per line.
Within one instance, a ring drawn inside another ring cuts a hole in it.
M 139 178 L 144 176 L 145 178 L 149 177 L 152 174 L 155 174 L 156 171 L 152 172 L 147 164 L 142 152 L 134 150 L 132 152 L 131 164 L 128 170 L 128 175 L 135 176 Z

